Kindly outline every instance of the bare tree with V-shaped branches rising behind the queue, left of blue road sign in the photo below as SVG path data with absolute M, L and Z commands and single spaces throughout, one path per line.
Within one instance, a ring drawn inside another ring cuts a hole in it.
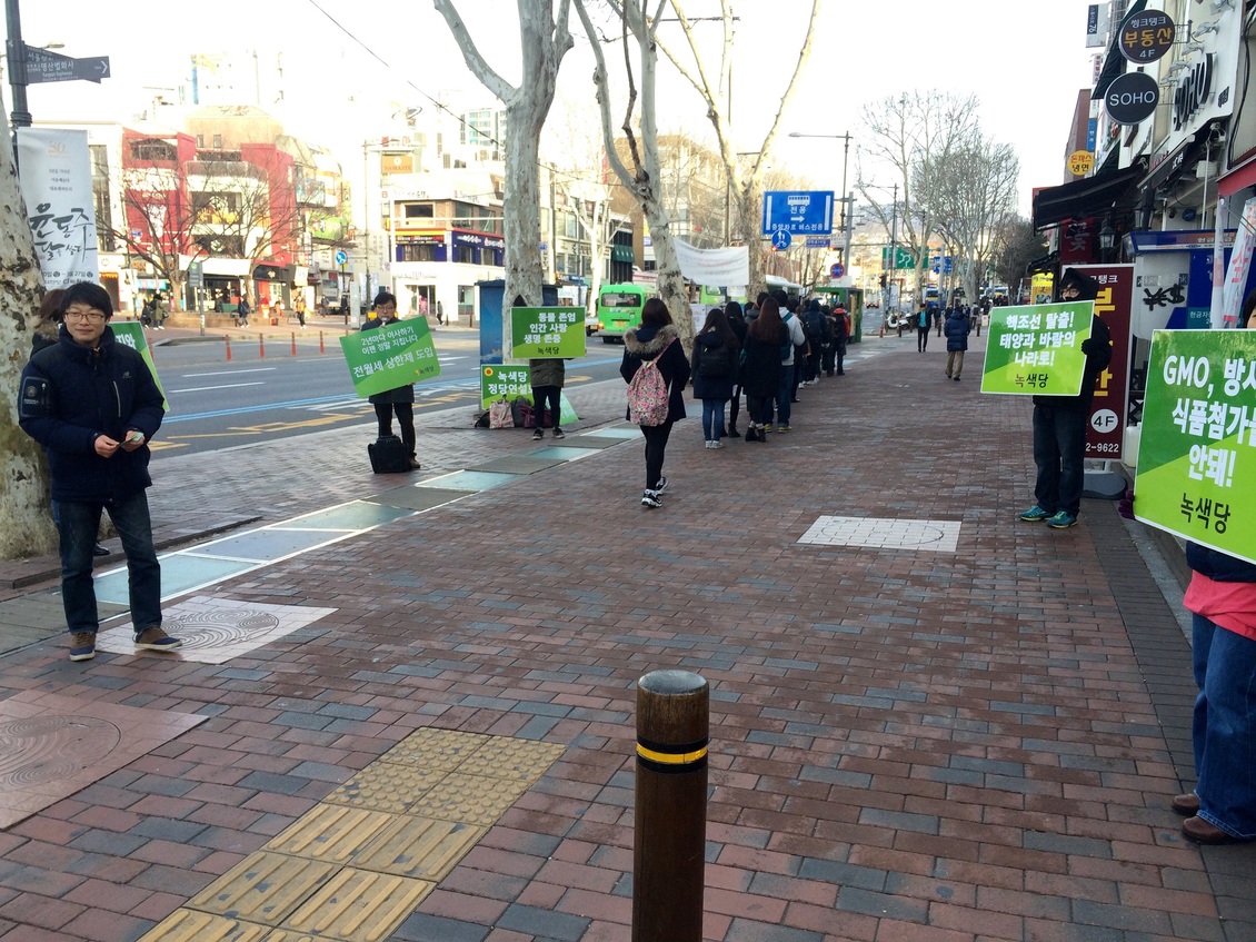
M 610 0 L 612 6 L 615 6 L 618 3 L 619 0 Z M 672 0 L 672 9 L 676 11 L 676 19 L 681 24 L 681 30 L 685 34 L 685 41 L 690 48 L 693 60 L 692 67 L 682 63 L 679 57 L 673 54 L 666 43 L 659 43 L 659 48 L 672 64 L 676 65 L 686 80 L 693 85 L 706 104 L 707 118 L 715 128 L 716 142 L 720 149 L 720 157 L 723 161 L 728 187 L 731 190 L 732 198 L 737 203 L 742 236 L 746 245 L 750 246 L 750 284 L 746 286 L 746 291 L 749 296 L 754 298 L 755 294 L 762 290 L 764 286 L 764 255 L 762 239 L 760 236 L 760 219 L 762 217 L 764 197 L 762 176 L 769 166 L 769 161 L 776 143 L 781 116 L 788 111 L 789 102 L 794 97 L 794 90 L 798 87 L 799 75 L 803 74 L 803 70 L 811 57 L 811 39 L 815 34 L 815 20 L 820 11 L 820 0 L 811 0 L 811 14 L 808 18 L 806 30 L 803 34 L 799 49 L 796 51 L 774 50 L 772 60 L 784 60 L 786 63 L 793 62 L 794 72 L 790 75 L 789 84 L 781 94 L 781 102 L 780 107 L 776 109 L 776 117 L 772 119 L 772 124 L 769 128 L 767 134 L 759 146 L 759 152 L 750 154 L 752 160 L 749 161 L 739 158 L 732 127 L 734 25 L 737 19 L 734 14 L 732 0 L 720 0 L 720 10 L 722 14 L 721 19 L 723 21 L 723 39 L 720 44 L 718 70 L 715 73 L 712 73 L 712 70 L 703 62 L 700 51 L 703 48 L 710 48 L 710 43 L 702 43 L 695 34 L 693 23 L 685 14 L 681 0 Z M 755 80 L 761 82 L 765 75 L 771 73 L 756 70 L 754 74 Z M 845 193 L 843 193 L 843 197 L 844 196 Z

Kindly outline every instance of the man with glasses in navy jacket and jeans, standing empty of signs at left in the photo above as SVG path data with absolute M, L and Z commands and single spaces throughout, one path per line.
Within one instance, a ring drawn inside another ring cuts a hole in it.
M 23 371 L 18 421 L 48 453 L 53 500 L 60 507 L 70 661 L 95 657 L 92 550 L 102 511 L 127 555 L 136 648 L 171 651 L 181 642 L 161 627 L 161 564 L 144 494 L 152 485 L 148 440 L 165 414 L 162 394 L 143 358 L 114 342 L 113 305 L 103 288 L 70 285 L 60 313 L 58 342 Z

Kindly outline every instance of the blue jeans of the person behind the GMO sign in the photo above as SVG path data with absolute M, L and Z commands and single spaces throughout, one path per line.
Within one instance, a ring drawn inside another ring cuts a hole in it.
M 1256 641 L 1192 615 L 1194 788 L 1199 816 L 1256 838 Z

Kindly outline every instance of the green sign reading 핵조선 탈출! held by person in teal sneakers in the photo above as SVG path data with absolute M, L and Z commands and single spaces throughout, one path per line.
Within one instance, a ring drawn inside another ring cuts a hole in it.
M 1076 396 L 1094 301 L 992 308 L 981 392 Z

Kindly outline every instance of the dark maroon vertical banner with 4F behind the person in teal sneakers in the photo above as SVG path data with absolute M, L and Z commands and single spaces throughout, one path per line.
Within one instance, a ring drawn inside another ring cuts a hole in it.
M 1129 404 L 1134 266 L 1075 265 L 1074 270 L 1089 275 L 1099 283 L 1095 317 L 1108 327 L 1108 332 L 1112 334 L 1112 363 L 1095 381 L 1095 397 L 1090 403 L 1090 426 L 1086 428 L 1084 457 L 1120 461 Z

